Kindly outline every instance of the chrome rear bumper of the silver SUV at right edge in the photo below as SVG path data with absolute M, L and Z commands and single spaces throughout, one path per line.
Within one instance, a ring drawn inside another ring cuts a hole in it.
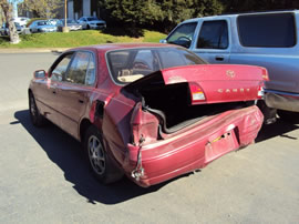
M 299 112 L 299 93 L 265 90 L 265 101 L 269 108 Z

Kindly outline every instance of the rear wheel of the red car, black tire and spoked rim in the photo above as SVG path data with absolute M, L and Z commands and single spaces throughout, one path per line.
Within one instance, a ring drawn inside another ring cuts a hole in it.
M 102 133 L 91 125 L 84 138 L 84 151 L 93 175 L 103 184 L 114 183 L 123 177 L 123 172 L 107 154 Z

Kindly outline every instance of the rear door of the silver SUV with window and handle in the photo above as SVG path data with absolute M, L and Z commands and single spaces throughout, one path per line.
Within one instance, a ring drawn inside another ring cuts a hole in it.
M 230 21 L 202 20 L 195 44 L 190 49 L 209 63 L 229 63 L 230 55 Z

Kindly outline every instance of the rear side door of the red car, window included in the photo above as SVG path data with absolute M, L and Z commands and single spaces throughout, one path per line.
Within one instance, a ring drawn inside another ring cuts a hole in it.
M 74 138 L 79 136 L 79 124 L 89 105 L 95 83 L 95 53 L 78 51 L 58 90 L 60 125 Z

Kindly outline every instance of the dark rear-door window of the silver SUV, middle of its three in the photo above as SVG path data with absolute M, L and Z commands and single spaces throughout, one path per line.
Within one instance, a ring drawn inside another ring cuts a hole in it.
M 197 40 L 198 49 L 227 49 L 228 31 L 225 20 L 205 21 Z

